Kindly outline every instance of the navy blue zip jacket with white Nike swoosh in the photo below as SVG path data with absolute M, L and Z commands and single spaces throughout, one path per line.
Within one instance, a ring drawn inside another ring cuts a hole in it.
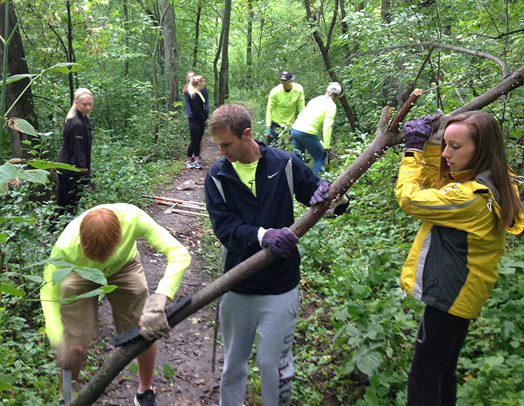
M 309 206 L 314 191 L 323 183 L 296 156 L 256 142 L 261 149 L 255 175 L 256 197 L 225 157 L 210 167 L 205 178 L 205 203 L 213 231 L 227 249 L 224 273 L 262 249 L 259 227 L 282 228 L 293 224 L 293 195 L 298 202 Z M 295 248 L 289 257 L 280 257 L 232 291 L 243 294 L 289 292 L 300 281 L 299 266 L 300 255 Z

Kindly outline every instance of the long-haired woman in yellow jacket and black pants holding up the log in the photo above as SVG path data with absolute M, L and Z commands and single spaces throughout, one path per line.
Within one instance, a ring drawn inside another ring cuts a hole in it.
M 524 229 L 516 175 L 493 116 L 454 116 L 443 138 L 442 130 L 432 135 L 431 121 L 405 123 L 395 190 L 402 210 L 423 220 L 400 276 L 402 290 L 426 304 L 408 377 L 409 406 L 456 404 L 456 366 L 470 319 L 493 290 L 506 232 Z

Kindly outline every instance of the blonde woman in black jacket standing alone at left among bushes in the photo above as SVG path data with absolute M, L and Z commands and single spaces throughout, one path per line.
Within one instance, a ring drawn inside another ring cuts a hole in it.
M 64 124 L 64 141 L 57 162 L 68 163 L 87 171 L 58 172 L 58 208 L 55 216 L 76 213 L 83 186 L 92 184 L 91 177 L 91 120 L 87 116 L 93 108 L 93 95 L 89 89 L 75 91 L 75 100 Z

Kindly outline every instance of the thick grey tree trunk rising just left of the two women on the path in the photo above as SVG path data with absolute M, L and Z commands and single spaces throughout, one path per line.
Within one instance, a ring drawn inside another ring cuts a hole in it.
M 162 0 L 163 55 L 165 58 L 164 74 L 166 75 L 168 99 L 166 112 L 172 112 L 173 103 L 178 101 L 178 50 L 175 8 L 169 0 Z

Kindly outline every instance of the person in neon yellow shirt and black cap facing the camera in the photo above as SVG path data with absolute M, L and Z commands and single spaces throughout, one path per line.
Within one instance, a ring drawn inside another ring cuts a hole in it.
M 280 84 L 271 89 L 268 98 L 268 109 L 265 112 L 265 137 L 270 144 L 276 141 L 277 128 L 291 127 L 295 121 L 296 110 L 304 110 L 304 88 L 293 83 L 295 77 L 291 72 L 284 70 L 280 76 Z

